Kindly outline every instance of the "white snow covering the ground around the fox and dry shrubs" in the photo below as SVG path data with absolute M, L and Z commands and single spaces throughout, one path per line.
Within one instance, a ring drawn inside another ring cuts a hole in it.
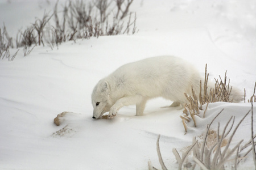
M 5 22 L 15 37 L 54 5 L 1 0 L 0 26 Z M 20 49 L 14 61 L 0 61 L 0 169 L 147 169 L 148 160 L 160 168 L 159 134 L 164 162 L 176 169 L 172 148 L 191 145 L 223 108 L 213 129 L 218 122 L 223 128 L 230 116 L 236 116 L 236 125 L 251 109 L 249 103 L 209 104 L 206 118 L 197 118 L 197 128 L 189 123 L 185 135 L 182 109 L 160 108 L 171 104 L 163 99 L 148 102 L 142 117 L 129 106 L 113 120 L 93 120 L 90 95 L 98 80 L 124 63 L 164 54 L 184 58 L 202 75 L 207 63 L 210 79 L 228 70 L 232 86 L 246 88 L 246 99 L 253 94 L 256 1 L 135 0 L 130 10 L 138 18 L 134 35 L 69 41 L 53 50 L 36 46 L 26 57 Z M 60 126 L 53 124 L 64 111 L 73 113 Z M 232 144 L 249 141 L 250 122 L 247 116 Z M 252 155 L 238 168 L 253 169 Z

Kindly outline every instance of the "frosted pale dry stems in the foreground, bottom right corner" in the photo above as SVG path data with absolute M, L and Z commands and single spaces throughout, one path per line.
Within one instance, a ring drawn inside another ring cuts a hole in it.
M 253 116 L 253 110 L 247 112 L 245 116 L 243 116 L 243 118 L 240 120 L 240 122 L 238 122 L 236 127 L 234 127 L 234 117 L 230 117 L 229 121 L 224 126 L 222 133 L 220 134 L 220 123 L 218 124 L 217 130 L 210 130 L 210 126 L 212 125 L 213 121 L 221 114 L 221 112 L 218 113 L 217 116 L 213 118 L 212 122 L 210 122 L 210 124 L 207 126 L 204 136 L 200 137 L 203 139 L 203 142 L 199 142 L 199 140 L 196 140 L 194 137 L 192 145 L 188 146 L 181 156 L 175 148 L 172 150 L 177 163 L 179 164 L 179 169 L 195 169 L 196 166 L 198 166 L 200 169 L 225 169 L 225 164 L 227 162 L 229 162 L 229 164 L 230 162 L 233 162 L 232 167 L 237 169 L 237 165 L 241 162 L 242 159 L 246 158 L 247 154 L 251 150 L 253 150 L 256 168 L 256 155 L 254 148 L 254 138 L 256 135 L 253 135 L 253 128 L 251 128 L 250 141 L 246 142 L 245 145 L 242 146 L 241 143 L 243 140 L 241 140 L 237 143 L 236 146 L 230 148 L 230 143 L 238 127 L 250 112 Z M 251 124 L 253 124 L 253 119 L 251 120 Z M 232 131 L 232 129 L 234 130 Z M 162 155 L 160 154 L 159 138 L 160 135 L 158 137 L 158 141 L 156 142 L 159 163 L 162 169 L 167 169 L 166 165 L 163 163 Z M 212 139 L 214 140 L 212 141 Z M 209 141 L 211 141 L 210 144 L 208 143 Z M 247 152 L 243 151 L 245 149 L 247 149 Z M 148 162 L 148 169 L 156 168 L 152 167 L 151 162 Z

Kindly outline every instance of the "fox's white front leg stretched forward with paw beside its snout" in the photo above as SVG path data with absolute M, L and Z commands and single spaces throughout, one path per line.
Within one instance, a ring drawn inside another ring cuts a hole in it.
M 123 106 L 134 105 L 137 103 L 141 103 L 142 101 L 143 97 L 141 95 L 122 97 L 121 99 L 118 99 L 115 104 L 110 108 L 108 117 L 114 118 L 117 115 L 118 110 L 121 109 Z

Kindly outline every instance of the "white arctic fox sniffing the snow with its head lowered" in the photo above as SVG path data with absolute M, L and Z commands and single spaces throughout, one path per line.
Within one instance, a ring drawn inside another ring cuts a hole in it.
M 113 118 L 123 106 L 136 105 L 136 116 L 142 116 L 148 99 L 163 97 L 174 101 L 170 107 L 187 101 L 184 93 L 196 94 L 200 89 L 200 74 L 188 62 L 173 56 L 159 56 L 127 63 L 101 79 L 92 92 L 93 118 L 105 112 Z M 232 91 L 234 102 L 242 100 L 239 91 Z

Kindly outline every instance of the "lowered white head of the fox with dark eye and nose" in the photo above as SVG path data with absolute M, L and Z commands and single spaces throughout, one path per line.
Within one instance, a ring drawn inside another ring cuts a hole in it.
M 104 80 L 100 80 L 94 87 L 92 93 L 93 118 L 100 118 L 105 112 L 110 110 L 109 102 L 109 84 Z

